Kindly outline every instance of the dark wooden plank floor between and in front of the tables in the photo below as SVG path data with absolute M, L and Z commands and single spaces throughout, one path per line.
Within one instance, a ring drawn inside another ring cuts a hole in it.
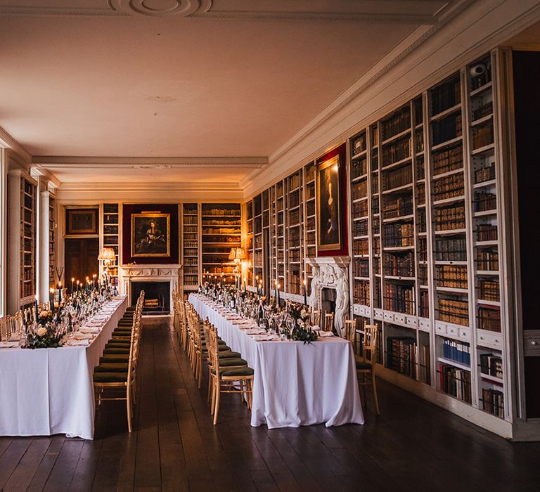
M 0 490 L 540 490 L 540 444 L 510 443 L 384 382 L 382 413 L 368 393 L 364 426 L 253 428 L 228 395 L 214 427 L 176 345 L 168 322 L 145 322 L 136 432 L 122 403 L 103 403 L 94 441 L 0 437 Z

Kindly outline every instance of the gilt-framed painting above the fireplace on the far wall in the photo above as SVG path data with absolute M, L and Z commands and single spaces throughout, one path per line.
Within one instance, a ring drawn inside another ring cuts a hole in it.
M 131 257 L 171 256 L 171 214 L 131 214 Z

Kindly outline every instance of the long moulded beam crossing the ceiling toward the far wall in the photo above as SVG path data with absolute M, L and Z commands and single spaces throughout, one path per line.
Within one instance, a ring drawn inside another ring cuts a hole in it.
M 32 164 L 44 169 L 200 169 L 243 168 L 262 169 L 268 157 L 82 157 L 64 155 L 35 155 Z

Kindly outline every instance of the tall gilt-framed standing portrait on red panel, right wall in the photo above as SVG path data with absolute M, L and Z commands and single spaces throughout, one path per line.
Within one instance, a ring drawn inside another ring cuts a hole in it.
M 335 155 L 319 164 L 317 179 L 317 218 L 319 232 L 317 248 L 321 251 L 340 250 L 341 193 L 340 156 Z

